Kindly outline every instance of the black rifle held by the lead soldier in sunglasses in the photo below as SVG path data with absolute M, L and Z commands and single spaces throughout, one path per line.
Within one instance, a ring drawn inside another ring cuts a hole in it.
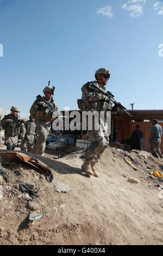
M 89 89 L 97 91 L 98 93 L 102 93 L 105 96 L 108 96 L 108 103 L 114 104 L 115 106 L 113 108 L 115 109 L 121 109 L 122 111 L 125 111 L 128 115 L 130 115 L 127 111 L 126 111 L 126 107 L 124 107 L 120 102 L 117 102 L 114 99 L 114 95 L 112 93 L 108 92 L 104 92 L 102 89 L 100 89 L 99 87 L 96 86 L 95 83 L 92 83 L 89 85 Z M 106 102 L 107 102 L 106 101 Z M 130 117 L 132 117 L 132 115 L 130 115 Z

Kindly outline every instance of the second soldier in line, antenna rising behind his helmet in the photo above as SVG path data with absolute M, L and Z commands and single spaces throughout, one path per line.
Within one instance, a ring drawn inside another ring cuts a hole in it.
M 43 89 L 43 99 L 53 106 L 53 108 L 57 111 L 58 107 L 53 100 L 54 95 L 54 87 L 46 86 Z M 34 144 L 32 153 L 37 155 L 43 155 L 45 151 L 46 139 L 48 136 L 49 130 L 51 130 L 51 121 L 54 120 L 51 112 L 47 112 L 47 105 L 45 102 L 40 99 L 36 99 L 30 108 L 31 117 L 35 118 L 36 124 L 36 134 L 38 139 Z

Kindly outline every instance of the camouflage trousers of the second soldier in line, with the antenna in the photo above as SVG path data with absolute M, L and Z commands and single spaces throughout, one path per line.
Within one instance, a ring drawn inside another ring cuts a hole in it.
M 42 155 L 45 151 L 46 139 L 49 130 L 51 130 L 51 122 L 36 121 L 36 135 L 38 137 L 36 143 L 34 144 L 32 153 L 37 155 Z

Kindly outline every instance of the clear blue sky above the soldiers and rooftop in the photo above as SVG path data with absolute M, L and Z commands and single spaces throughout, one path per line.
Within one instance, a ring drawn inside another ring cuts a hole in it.
M 101 67 L 128 109 L 163 109 L 162 30 L 159 0 L 0 0 L 0 113 L 28 117 L 49 80 L 59 110 L 78 109 Z

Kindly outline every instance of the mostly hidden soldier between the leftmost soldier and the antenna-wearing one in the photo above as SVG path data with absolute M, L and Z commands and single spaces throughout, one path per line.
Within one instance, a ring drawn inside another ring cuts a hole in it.
M 25 124 L 26 126 L 26 135 L 21 142 L 20 148 L 22 151 L 32 152 L 34 139 L 35 139 L 35 119 L 29 117 L 29 120 Z

